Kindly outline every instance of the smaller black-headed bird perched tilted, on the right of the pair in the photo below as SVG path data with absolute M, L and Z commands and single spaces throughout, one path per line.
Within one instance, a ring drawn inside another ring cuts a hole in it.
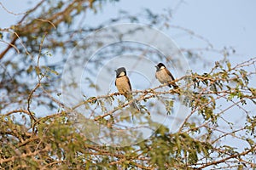
M 178 86 L 174 81 L 174 77 L 172 76 L 172 73 L 166 69 L 166 65 L 159 63 L 158 65 L 155 65 L 156 67 L 156 72 L 155 72 L 155 77 L 159 80 L 160 83 L 168 83 L 168 86 L 170 88 L 175 88 L 177 89 Z

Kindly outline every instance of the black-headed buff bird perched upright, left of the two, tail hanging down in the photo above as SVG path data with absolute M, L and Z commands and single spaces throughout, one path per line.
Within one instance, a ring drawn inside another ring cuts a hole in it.
M 125 98 L 128 101 L 130 101 L 132 99 L 131 82 L 129 78 L 126 76 L 125 67 L 120 67 L 119 69 L 115 70 L 115 72 L 116 72 L 115 86 L 116 88 L 118 88 L 119 94 L 123 94 Z M 131 103 L 131 107 L 139 111 L 135 102 Z

